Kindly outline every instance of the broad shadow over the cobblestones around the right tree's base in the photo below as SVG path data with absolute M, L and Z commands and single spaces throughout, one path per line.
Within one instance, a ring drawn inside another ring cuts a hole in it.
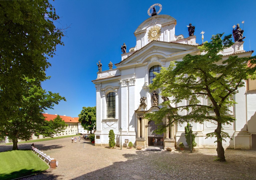
M 244 160 L 243 154 L 227 158 L 228 161 L 237 160 L 239 166 L 237 163 L 212 163 L 215 155 L 208 155 L 200 151 L 196 153 L 190 153 L 190 151 L 136 151 L 135 154 L 123 154 L 123 157 L 127 160 L 113 162 L 112 165 L 83 174 L 72 180 L 188 179 L 192 176 L 193 179 L 205 180 L 255 179 L 255 164 L 252 161 L 248 163 L 247 160 Z

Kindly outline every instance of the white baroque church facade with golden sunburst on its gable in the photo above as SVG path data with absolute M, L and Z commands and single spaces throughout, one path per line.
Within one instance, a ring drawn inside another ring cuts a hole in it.
M 175 34 L 176 19 L 169 15 L 156 15 L 146 19 L 135 30 L 136 46 L 121 55 L 117 68 L 97 73 L 97 79 L 92 80 L 96 88 L 97 126 L 95 131 L 95 146 L 108 146 L 109 130 L 113 129 L 116 146 L 120 146 L 120 127 L 122 128 L 122 146 L 125 139 L 136 146 L 147 148 L 153 145 L 153 138 L 163 139 L 163 147 L 175 148 L 180 142 L 186 146 L 184 124 L 174 124 L 167 128 L 166 133 L 156 135 L 154 122 L 144 118 L 146 113 L 158 111 L 163 102 L 158 93 L 157 103 L 152 99 L 148 85 L 154 78 L 153 72 L 159 72 L 161 67 L 168 67 L 171 61 L 182 61 L 187 55 L 200 54 L 196 36 Z M 249 57 L 253 51 L 243 50 L 243 41 L 236 42 L 232 47 L 221 52 L 223 59 L 229 56 Z M 99 62 L 100 63 L 100 62 Z M 142 98 L 142 99 L 141 99 Z M 169 97 L 170 99 L 172 97 Z M 231 125 L 224 125 L 224 131 L 233 140 L 223 142 L 224 148 L 252 149 L 256 145 L 256 86 L 255 81 L 247 82 L 246 87 L 239 89 L 235 95 L 238 103 L 230 107 L 230 116 L 237 120 Z M 141 101 L 142 100 L 142 101 Z M 178 105 L 186 105 L 184 100 Z M 201 99 L 202 104 L 208 104 L 207 99 Z M 175 104 L 171 104 L 175 106 Z M 186 111 L 179 112 L 187 113 Z M 163 124 L 168 119 L 163 119 Z M 214 132 L 217 123 L 213 120 L 203 124 L 191 123 L 196 135 L 196 148 L 216 148 L 215 138 L 205 139 L 206 134 Z

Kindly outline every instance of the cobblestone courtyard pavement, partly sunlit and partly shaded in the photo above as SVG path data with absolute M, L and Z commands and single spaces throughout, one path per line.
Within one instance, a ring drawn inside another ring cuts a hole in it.
M 29 144 L 19 145 L 28 149 Z M 159 180 L 253 180 L 256 179 L 255 150 L 226 150 L 227 162 L 214 161 L 215 149 L 152 152 L 93 146 L 90 141 L 71 143 L 71 138 L 35 143 L 59 161 L 56 170 L 23 178 L 40 179 L 159 179 Z M 12 146 L 0 146 L 0 151 Z

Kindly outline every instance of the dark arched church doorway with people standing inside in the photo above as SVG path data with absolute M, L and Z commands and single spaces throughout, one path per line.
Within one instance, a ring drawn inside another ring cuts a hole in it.
M 163 125 L 160 124 L 160 125 Z M 160 146 L 160 139 L 164 139 L 164 133 L 163 134 L 155 134 L 154 130 L 157 128 L 158 125 L 155 125 L 154 121 L 149 121 L 147 125 L 147 139 L 148 139 L 148 146 L 154 146 L 153 139 L 157 138 L 157 146 Z

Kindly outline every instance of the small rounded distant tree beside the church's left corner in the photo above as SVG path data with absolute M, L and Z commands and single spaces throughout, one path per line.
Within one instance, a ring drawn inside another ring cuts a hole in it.
M 83 107 L 78 117 L 78 121 L 81 123 L 83 128 L 90 131 L 92 134 L 92 130 L 95 129 L 96 126 L 96 106 Z

